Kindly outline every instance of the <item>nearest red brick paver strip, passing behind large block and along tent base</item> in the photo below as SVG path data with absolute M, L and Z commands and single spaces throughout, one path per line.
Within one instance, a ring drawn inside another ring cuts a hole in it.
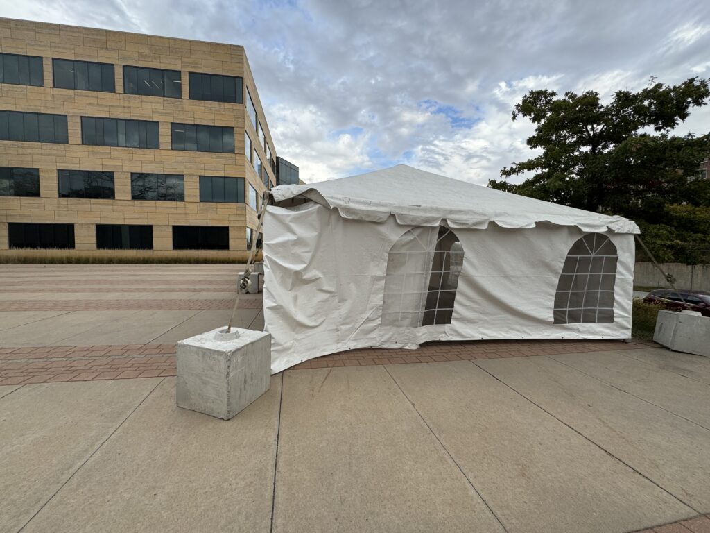
M 421 345 L 418 350 L 362 349 L 339 352 L 302 362 L 293 368 L 301 370 L 529 357 L 633 350 L 653 345 L 639 341 L 621 343 L 618 340 L 435 342 Z M 174 376 L 175 373 L 174 344 L 0 348 L 0 385 Z

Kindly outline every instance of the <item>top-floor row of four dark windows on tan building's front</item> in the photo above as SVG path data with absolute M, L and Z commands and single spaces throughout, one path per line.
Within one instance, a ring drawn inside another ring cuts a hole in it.
M 123 69 L 126 95 L 182 98 L 180 70 L 131 65 L 124 65 Z M 57 58 L 52 60 L 54 87 L 58 89 L 116 92 L 114 70 L 115 65 L 111 63 Z M 188 82 L 192 100 L 244 103 L 241 77 L 188 72 Z M 34 55 L 0 53 L 0 83 L 43 87 L 42 58 Z

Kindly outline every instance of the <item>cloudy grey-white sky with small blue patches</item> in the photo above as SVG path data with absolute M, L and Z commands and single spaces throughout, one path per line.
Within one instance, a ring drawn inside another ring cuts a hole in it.
M 528 90 L 710 77 L 697 0 L 0 0 L 0 13 L 244 45 L 276 151 L 307 182 L 407 163 L 485 184 L 531 155 L 532 126 L 510 120 Z M 701 109 L 677 131 L 709 130 Z

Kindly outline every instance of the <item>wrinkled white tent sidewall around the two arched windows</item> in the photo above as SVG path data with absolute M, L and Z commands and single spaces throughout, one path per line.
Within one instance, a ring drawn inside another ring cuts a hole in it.
M 383 326 L 388 254 L 416 227 L 394 216 L 384 222 L 347 219 L 316 203 L 268 208 L 264 316 L 273 338 L 273 372 L 342 350 L 430 340 L 630 338 L 633 235 L 602 234 L 618 254 L 613 323 L 555 324 L 559 274 L 586 232 L 550 223 L 454 228 L 464 260 L 452 323 Z

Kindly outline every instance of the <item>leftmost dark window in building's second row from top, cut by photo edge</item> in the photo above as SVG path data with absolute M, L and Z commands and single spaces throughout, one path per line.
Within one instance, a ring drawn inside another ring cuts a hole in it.
M 67 115 L 0 111 L 0 141 L 67 144 Z

